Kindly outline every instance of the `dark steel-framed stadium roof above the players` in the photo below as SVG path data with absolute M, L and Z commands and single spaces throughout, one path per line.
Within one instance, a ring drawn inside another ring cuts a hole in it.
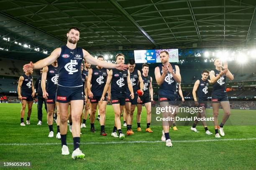
M 256 0 L 1 0 L 0 46 L 51 51 L 72 26 L 91 51 L 254 46 L 255 10 Z

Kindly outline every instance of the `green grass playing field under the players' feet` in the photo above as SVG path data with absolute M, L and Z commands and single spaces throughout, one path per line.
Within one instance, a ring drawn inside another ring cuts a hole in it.
M 172 170 L 241 170 L 256 169 L 256 125 L 245 125 L 246 120 L 256 122 L 255 110 L 231 110 L 230 120 L 241 120 L 240 125 L 225 126 L 225 137 L 215 140 L 214 135 L 205 135 L 204 128 L 198 126 L 200 133 L 193 133 L 190 126 L 178 126 L 178 131 L 171 131 L 173 147 L 167 148 L 161 140 L 161 126 L 152 125 L 154 133 L 146 133 L 146 112 L 141 118 L 142 132 L 137 132 L 136 117 L 133 121 L 132 136 L 125 140 L 111 136 L 114 125 L 112 106 L 107 107 L 106 132 L 100 136 L 100 125 L 96 120 L 96 133 L 90 133 L 90 122 L 81 130 L 80 149 L 85 160 L 72 160 L 71 154 L 61 155 L 61 142 L 48 138 L 46 112 L 43 111 L 43 125 L 36 125 L 37 109 L 33 104 L 31 125 L 20 126 L 21 104 L 0 104 L 0 169 L 4 162 L 30 162 L 33 169 L 61 170 L 97 170 L 97 169 L 172 169 Z M 211 110 L 207 110 L 207 116 Z M 243 119 L 236 115 L 245 115 Z M 246 115 L 249 115 L 248 117 Z M 25 114 L 24 120 L 26 120 Z M 136 113 L 135 113 L 136 116 Z M 222 110 L 220 110 L 222 117 Z M 121 118 L 121 122 L 123 117 Z M 245 122 L 245 123 L 244 123 Z M 238 123 L 239 124 L 239 123 Z M 208 127 L 214 133 L 212 126 Z M 126 132 L 126 127 L 123 127 Z M 138 142 L 137 142 L 138 141 Z M 68 131 L 67 142 L 72 153 L 72 134 Z M 29 169 L 28 167 L 9 167 L 6 169 Z

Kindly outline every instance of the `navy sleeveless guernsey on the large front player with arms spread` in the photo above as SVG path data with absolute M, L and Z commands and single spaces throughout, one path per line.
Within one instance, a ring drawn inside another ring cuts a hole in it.
M 83 50 L 80 47 L 73 50 L 69 49 L 67 45 L 61 47 L 61 54 L 58 58 L 58 85 L 64 87 L 80 87 L 83 85 L 81 76 L 83 56 Z

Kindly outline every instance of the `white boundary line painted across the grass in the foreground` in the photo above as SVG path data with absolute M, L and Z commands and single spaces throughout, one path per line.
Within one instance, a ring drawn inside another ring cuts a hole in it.
M 256 140 L 256 138 L 247 139 L 212 139 L 212 140 L 172 140 L 173 143 L 194 143 L 194 142 L 219 142 L 219 141 L 230 141 L 230 140 Z M 163 143 L 160 140 L 156 141 L 119 141 L 119 142 L 86 142 L 80 143 L 82 145 L 108 145 L 108 144 L 127 144 L 127 143 Z M 72 145 L 73 143 L 67 143 Z M 0 143 L 0 146 L 38 146 L 38 145 L 60 145 L 60 143 Z

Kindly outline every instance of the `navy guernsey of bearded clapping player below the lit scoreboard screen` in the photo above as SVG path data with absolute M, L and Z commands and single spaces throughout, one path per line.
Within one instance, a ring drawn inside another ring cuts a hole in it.
M 172 70 L 174 73 L 176 73 L 176 67 L 174 64 L 172 65 Z M 163 74 L 162 70 L 163 65 L 159 65 L 160 74 Z M 176 88 L 176 81 L 172 77 L 172 73 L 168 72 L 164 78 L 164 82 L 159 87 L 159 95 L 177 95 L 177 88 Z

